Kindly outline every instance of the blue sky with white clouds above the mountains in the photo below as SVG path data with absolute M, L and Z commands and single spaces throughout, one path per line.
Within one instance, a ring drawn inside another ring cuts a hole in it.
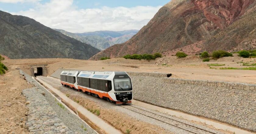
M 0 0 L 0 10 L 83 33 L 140 30 L 170 0 Z

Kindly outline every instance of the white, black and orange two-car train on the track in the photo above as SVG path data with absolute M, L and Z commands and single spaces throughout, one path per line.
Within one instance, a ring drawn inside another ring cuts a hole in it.
M 61 84 L 117 105 L 131 104 L 133 86 L 126 72 L 94 72 L 66 70 L 60 74 Z

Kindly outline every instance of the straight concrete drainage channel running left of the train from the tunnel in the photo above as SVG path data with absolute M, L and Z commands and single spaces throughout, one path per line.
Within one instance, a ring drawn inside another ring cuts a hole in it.
M 46 90 L 48 90 L 50 93 L 52 93 L 56 98 L 61 100 L 63 104 L 65 104 L 69 110 L 76 113 L 77 116 L 79 116 L 81 119 L 83 119 L 88 125 L 91 126 L 92 129 L 94 129 L 99 134 L 121 134 L 119 130 L 115 129 L 113 126 L 109 125 L 105 121 L 103 121 L 101 118 L 98 118 L 98 116 L 92 114 L 90 111 L 85 109 L 84 107 L 80 106 L 73 100 L 66 97 L 65 94 L 60 92 L 59 90 L 53 88 L 48 83 L 45 83 L 39 78 L 36 78 L 36 81 L 42 85 Z

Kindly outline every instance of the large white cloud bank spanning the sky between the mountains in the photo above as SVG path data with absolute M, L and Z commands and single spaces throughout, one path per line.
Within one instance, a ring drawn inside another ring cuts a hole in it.
M 77 9 L 73 0 L 51 0 L 44 4 L 37 3 L 33 9 L 12 14 L 33 18 L 51 28 L 82 33 L 97 30 L 139 30 L 160 8 L 161 6 L 105 6 L 97 9 Z

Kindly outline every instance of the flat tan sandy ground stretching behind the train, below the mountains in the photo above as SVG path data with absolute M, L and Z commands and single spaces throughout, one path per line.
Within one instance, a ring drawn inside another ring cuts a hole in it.
M 227 81 L 238 83 L 256 84 L 255 70 L 220 70 L 220 67 L 246 68 L 240 62 L 256 63 L 256 58 L 241 58 L 234 54 L 234 57 L 224 57 L 210 62 L 202 62 L 199 56 L 192 55 L 186 58 L 168 56 L 156 60 L 131 60 L 124 58 L 112 58 L 105 61 L 89 61 L 75 59 L 6 59 L 3 61 L 12 68 L 21 68 L 24 72 L 30 73 L 29 65 L 48 64 L 49 74 L 58 68 L 79 69 L 88 71 L 129 71 L 129 72 L 158 72 L 172 73 L 173 78 Z M 162 64 L 168 65 L 162 65 Z M 207 64 L 219 63 L 224 66 L 210 69 Z M 157 65 L 158 64 L 158 65 Z M 216 68 L 216 69 L 215 69 Z

